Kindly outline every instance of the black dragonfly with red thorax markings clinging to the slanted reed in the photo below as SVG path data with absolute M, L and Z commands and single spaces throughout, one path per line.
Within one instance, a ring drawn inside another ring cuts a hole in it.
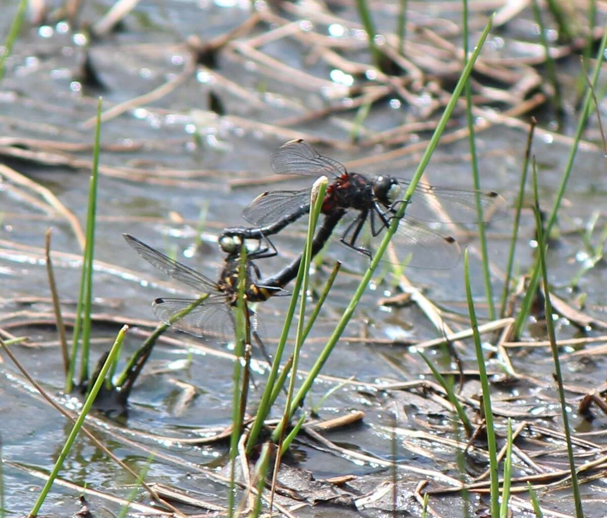
M 322 213 L 341 209 L 343 230 L 339 240 L 347 247 L 372 257 L 373 242 L 390 225 L 398 211 L 401 194 L 410 180 L 395 176 L 370 178 L 349 172 L 344 165 L 325 157 L 304 140 L 291 140 L 272 156 L 277 174 L 329 177 Z M 399 257 L 397 262 L 418 268 L 452 268 L 459 261 L 459 245 L 452 236 L 445 236 L 428 227 L 428 223 L 475 223 L 476 200 L 484 213 L 499 213 L 504 199 L 493 191 L 466 191 L 418 183 L 405 216 L 399 221 L 393 237 Z M 488 209 L 491 211 L 487 211 Z M 246 239 L 267 239 L 310 211 L 310 189 L 266 191 L 243 210 L 242 216 L 253 228 L 226 229 L 226 241 L 239 236 Z M 371 245 L 361 244 L 370 236 Z

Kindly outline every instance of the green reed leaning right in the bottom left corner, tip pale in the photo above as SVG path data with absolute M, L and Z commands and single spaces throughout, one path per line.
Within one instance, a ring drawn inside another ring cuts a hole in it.
M 53 470 L 50 472 L 49 478 L 47 479 L 46 483 L 44 484 L 44 487 L 42 488 L 42 491 L 40 492 L 40 494 L 38 496 L 38 500 L 36 500 L 36 503 L 33 506 L 32 511 L 30 511 L 30 514 L 28 515 L 28 518 L 33 518 L 35 516 L 38 516 L 38 511 L 40 510 L 40 507 L 42 506 L 44 499 L 46 499 L 46 496 L 49 493 L 50 488 L 53 485 L 53 482 L 55 482 L 55 479 L 59 473 L 59 470 L 61 469 L 61 466 L 63 466 L 63 462 L 64 462 L 64 460 L 66 460 L 67 454 L 69 454 L 70 449 L 72 448 L 73 442 L 76 439 L 76 436 L 78 435 L 78 432 L 80 431 L 80 429 L 82 428 L 82 425 L 84 424 L 84 418 L 86 418 L 86 415 L 89 413 L 90 408 L 93 405 L 93 401 L 95 401 L 95 398 L 97 397 L 97 394 L 98 394 L 99 390 L 101 389 L 101 386 L 103 385 L 103 382 L 107 375 L 107 370 L 109 370 L 110 365 L 115 360 L 116 355 L 118 354 L 118 351 L 120 350 L 120 347 L 122 345 L 122 342 L 124 341 L 124 335 L 125 335 L 127 329 L 129 329 L 129 327 L 127 325 L 124 325 L 123 328 L 120 330 L 120 332 L 118 332 L 114 345 L 112 346 L 112 349 L 110 349 L 109 355 L 107 355 L 107 359 L 106 359 L 105 363 L 103 364 L 103 367 L 101 367 L 101 371 L 97 377 L 97 380 L 95 380 L 95 383 L 93 383 L 92 389 L 90 389 L 89 395 L 87 395 L 86 400 L 84 401 L 82 410 L 80 411 L 80 415 L 78 415 L 78 419 L 76 419 L 76 422 L 73 425 L 72 431 L 70 431 L 70 434 L 67 437 L 66 443 L 63 445 L 63 448 L 61 449 L 61 453 L 59 454 L 59 457 L 57 458 L 57 460 L 55 462 L 55 466 L 53 467 Z

